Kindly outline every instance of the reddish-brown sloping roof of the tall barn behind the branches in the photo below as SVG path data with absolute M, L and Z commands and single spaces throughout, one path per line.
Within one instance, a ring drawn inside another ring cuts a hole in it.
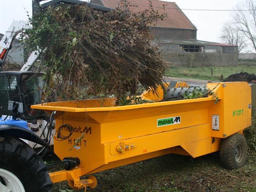
M 98 1 L 98 0 L 97 0 Z M 101 0 L 103 5 L 109 8 L 116 8 L 122 3 L 122 0 Z M 96 3 L 96 0 L 92 0 L 91 3 Z M 133 13 L 138 13 L 149 8 L 148 0 L 126 0 L 128 8 Z M 122 4 L 121 4 L 122 5 Z M 192 22 L 186 17 L 186 15 L 180 10 L 175 2 L 166 2 L 160 0 L 152 0 L 152 5 L 155 10 L 158 10 L 159 14 L 166 14 L 164 20 L 157 20 L 152 23 L 151 26 L 177 28 L 177 29 L 192 29 L 197 30 Z M 162 7 L 165 6 L 165 10 Z

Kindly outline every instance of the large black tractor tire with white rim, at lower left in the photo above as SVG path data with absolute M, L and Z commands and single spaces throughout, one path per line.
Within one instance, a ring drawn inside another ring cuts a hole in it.
M 5 137 L 0 142 L 0 168 L 18 177 L 26 192 L 50 192 L 52 181 L 44 161 L 20 139 Z

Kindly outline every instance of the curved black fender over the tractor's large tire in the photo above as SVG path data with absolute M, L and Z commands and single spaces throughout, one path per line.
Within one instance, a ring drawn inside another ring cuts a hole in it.
M 48 143 L 34 134 L 32 131 L 28 129 L 24 129 L 21 127 L 13 126 L 13 125 L 0 125 L 0 136 L 12 136 L 17 137 L 24 140 L 29 140 L 34 143 L 38 143 L 45 147 L 51 148 Z

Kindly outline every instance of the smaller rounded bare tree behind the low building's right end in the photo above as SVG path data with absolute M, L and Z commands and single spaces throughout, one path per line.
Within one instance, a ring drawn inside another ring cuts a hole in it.
M 233 27 L 230 22 L 224 24 L 220 38 L 225 44 L 237 45 L 239 53 L 247 47 L 244 33 Z

